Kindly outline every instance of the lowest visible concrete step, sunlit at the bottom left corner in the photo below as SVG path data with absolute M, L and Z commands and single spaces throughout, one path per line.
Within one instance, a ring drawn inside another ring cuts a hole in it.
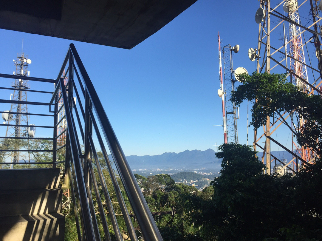
M 2 241 L 63 241 L 65 219 L 62 213 L 0 217 Z

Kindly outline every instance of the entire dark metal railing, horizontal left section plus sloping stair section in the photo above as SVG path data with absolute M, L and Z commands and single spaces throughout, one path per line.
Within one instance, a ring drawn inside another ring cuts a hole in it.
M 0 77 L 17 78 L 7 74 L 0 74 Z M 40 126 L 52 128 L 52 138 L 35 139 L 52 141 L 52 150 L 47 150 L 52 153 L 52 168 L 58 164 L 61 166 L 63 162 L 62 176 L 65 188 L 71 190 L 78 239 L 90 241 L 104 237 L 105 240 L 112 240 L 113 234 L 116 240 L 121 241 L 124 239 L 123 232 L 126 232 L 131 240 L 163 240 L 74 45 L 69 46 L 56 80 L 27 76 L 24 79 L 55 84 L 54 92 L 40 91 L 51 94 L 49 102 L 27 104 L 49 107 L 49 114 L 30 115 L 53 118 L 52 126 Z M 12 103 L 8 100 L 0 102 Z M 59 130 L 63 121 L 66 128 Z M 62 136 L 64 142 L 60 141 Z M 62 152 L 63 161 L 58 158 Z M 134 220 L 139 228 L 134 227 Z

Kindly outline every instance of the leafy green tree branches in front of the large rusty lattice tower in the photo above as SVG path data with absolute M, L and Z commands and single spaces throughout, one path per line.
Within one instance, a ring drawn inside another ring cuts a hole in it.
M 267 116 L 283 121 L 301 146 L 314 149 L 322 154 L 322 99 L 318 95 L 308 95 L 286 80 L 286 74 L 253 73 L 240 74 L 242 85 L 232 92 L 231 101 L 240 105 L 242 101 L 251 101 L 253 106 L 250 125 L 255 128 L 266 125 Z M 300 119 L 305 123 L 299 130 L 293 130 L 287 123 L 286 112 L 293 126 L 298 126 Z

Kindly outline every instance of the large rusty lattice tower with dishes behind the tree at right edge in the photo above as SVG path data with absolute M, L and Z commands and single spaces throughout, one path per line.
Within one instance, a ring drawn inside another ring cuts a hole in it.
M 260 0 L 260 8 L 256 11 L 255 22 L 259 24 L 258 46 L 257 48 L 249 49 L 249 58 L 251 61 L 257 60 L 257 72 L 270 73 L 273 69 L 278 73 L 287 73 L 290 82 L 298 86 L 301 91 L 308 94 L 322 94 L 318 89 L 321 84 L 322 68 L 314 68 L 312 62 L 306 63 L 305 54 L 309 52 L 316 52 L 318 59 L 318 66 L 321 62 L 321 50 L 319 36 L 321 36 L 321 28 L 318 25 L 321 18 L 318 16 L 318 6 L 313 4 L 313 1 L 303 1 L 298 3 L 297 0 L 284 0 L 281 2 L 274 1 L 274 6 L 271 5 L 271 0 Z M 316 3 L 316 1 L 315 1 Z M 299 8 L 306 8 L 304 11 L 312 13 L 313 24 L 303 26 L 301 24 Z M 282 11 L 284 10 L 284 11 Z M 285 12 L 286 15 L 282 13 Z M 287 26 L 287 27 L 285 27 Z M 288 30 L 288 31 L 287 31 Z M 283 33 L 283 37 L 277 37 L 278 34 Z M 289 34 L 289 36 L 287 36 Z M 313 35 L 313 36 L 312 36 Z M 276 37 L 275 37 L 276 36 Z M 283 39 L 284 43 L 281 45 L 278 41 Z M 306 51 L 306 52 L 305 52 Z M 311 55 L 310 55 L 311 56 Z M 308 70 L 310 75 L 308 77 Z M 311 83 L 309 83 L 309 78 Z M 319 80 L 320 79 L 320 80 Z M 320 81 L 318 83 L 318 81 Z M 305 120 L 298 117 L 296 114 L 291 116 L 293 118 L 293 130 L 299 131 L 305 123 Z M 289 119 L 290 119 L 289 118 Z M 254 133 L 254 149 L 259 147 L 259 151 L 263 150 L 262 161 L 266 157 L 267 172 L 271 171 L 271 163 L 273 163 L 273 171 L 280 174 L 286 171 L 295 172 L 298 170 L 301 160 L 304 162 L 312 162 L 314 159 L 314 152 L 311 149 L 304 149 L 298 146 L 296 140 L 292 137 L 292 147 L 286 147 L 277 140 L 278 129 L 286 124 L 288 116 L 284 113 L 281 118 L 267 118 L 266 129 L 263 133 L 255 130 Z M 274 133 L 277 131 L 276 133 Z M 274 133 L 276 138 L 272 138 Z M 293 136 L 293 135 L 292 135 Z M 263 141 L 265 139 L 265 141 Z M 271 142 L 293 155 L 292 160 L 279 160 L 277 157 L 271 155 Z M 265 143 L 262 146 L 261 143 Z M 292 150 L 290 150 L 292 149 Z

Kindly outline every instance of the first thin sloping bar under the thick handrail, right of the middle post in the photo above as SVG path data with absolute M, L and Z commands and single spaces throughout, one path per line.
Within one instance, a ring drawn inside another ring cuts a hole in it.
M 89 113 L 90 113 L 90 117 L 91 117 L 92 122 L 93 122 L 93 126 L 94 126 L 95 133 L 97 135 L 97 139 L 99 141 L 99 146 L 100 146 L 100 148 L 102 150 L 102 153 L 103 153 L 103 156 L 104 156 L 104 159 L 105 159 L 105 163 L 106 163 L 106 166 L 107 166 L 108 171 L 109 171 L 109 176 L 111 178 L 112 185 L 113 185 L 113 188 L 115 190 L 119 206 L 121 208 L 121 211 L 122 211 L 122 214 L 123 214 L 123 217 L 124 217 L 124 221 L 126 223 L 126 226 L 128 227 L 129 236 L 131 237 L 131 240 L 137 241 L 137 235 L 135 233 L 132 221 L 130 219 L 130 216 L 129 216 L 129 213 L 128 213 L 128 208 L 126 207 L 122 192 L 121 192 L 121 190 L 119 188 L 119 185 L 118 185 L 118 181 L 116 179 L 116 176 L 115 176 L 115 173 L 113 171 L 112 165 L 111 165 L 111 163 L 109 161 L 108 154 L 106 153 L 105 145 L 104 145 L 103 139 L 102 139 L 102 137 L 100 135 L 98 125 L 97 125 L 96 120 L 94 118 L 94 114 L 93 114 L 92 111 L 89 111 Z

